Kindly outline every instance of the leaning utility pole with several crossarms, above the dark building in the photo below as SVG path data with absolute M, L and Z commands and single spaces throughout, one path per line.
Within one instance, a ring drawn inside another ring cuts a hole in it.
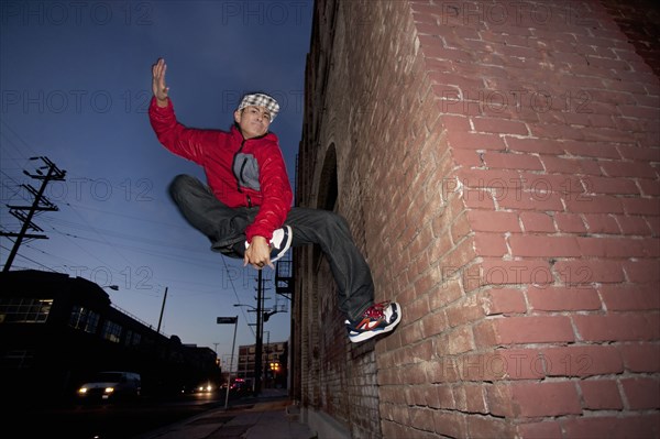
M 32 218 L 34 217 L 34 213 L 36 211 L 44 211 L 44 210 L 48 210 L 48 211 L 59 210 L 57 208 L 57 206 L 55 206 L 46 197 L 44 197 L 44 191 L 46 190 L 46 186 L 48 185 L 48 182 L 63 180 L 66 175 L 66 171 L 61 171 L 59 168 L 57 168 L 57 166 L 53 162 L 51 162 L 47 157 L 30 157 L 30 160 L 31 161 L 41 160 L 46 164 L 45 166 L 41 166 L 41 167 L 36 168 L 36 174 L 30 174 L 28 171 L 23 171 L 23 174 L 28 175 L 29 177 L 41 179 L 42 186 L 37 191 L 35 188 L 33 188 L 30 185 L 21 185 L 22 187 L 28 189 L 34 197 L 34 201 L 32 202 L 32 206 L 28 207 L 28 206 L 7 205 L 7 207 L 10 208 L 9 212 L 13 217 L 23 221 L 23 227 L 21 228 L 21 231 L 19 233 L 6 233 L 6 232 L 0 233 L 0 235 L 2 235 L 2 237 L 15 237 L 16 238 L 16 240 L 14 241 L 13 248 L 11 249 L 11 252 L 9 253 L 9 257 L 7 257 L 7 261 L 4 263 L 4 268 L 2 268 L 3 272 L 9 272 L 9 268 L 11 268 L 11 264 L 13 263 L 13 260 L 16 256 L 16 253 L 19 252 L 19 248 L 21 246 L 23 239 L 25 239 L 25 238 L 26 239 L 48 239 L 48 237 L 46 237 L 44 234 L 29 234 L 28 233 L 28 229 L 32 229 L 37 232 L 43 232 L 43 229 L 41 229 L 40 227 L 37 227 L 35 223 L 32 222 Z M 46 172 L 46 175 L 44 175 L 42 169 L 46 169 L 46 168 L 48 171 Z M 25 210 L 28 210 L 28 215 L 24 213 Z

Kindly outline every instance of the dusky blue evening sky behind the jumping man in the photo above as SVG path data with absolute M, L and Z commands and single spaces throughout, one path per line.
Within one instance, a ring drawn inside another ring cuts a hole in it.
M 24 241 L 12 270 L 80 276 L 106 288 L 112 303 L 184 343 L 231 351 L 254 342 L 248 322 L 256 272 L 209 250 L 209 241 L 180 217 L 167 195 L 177 174 L 201 169 L 157 142 L 146 114 L 151 65 L 167 63 L 167 85 L 179 121 L 229 129 L 245 91 L 275 96 L 271 127 L 280 140 L 292 185 L 301 134 L 305 61 L 312 1 L 2 1 L 0 3 L 1 226 L 21 223 L 7 204 L 29 205 L 21 185 L 38 188 L 45 156 L 66 171 L 45 195 L 59 210 L 34 222 L 48 239 Z M 13 242 L 0 238 L 0 262 Z M 267 279 L 273 271 L 264 271 Z M 266 306 L 276 298 L 266 282 Z M 289 333 L 289 314 L 266 323 L 271 341 Z

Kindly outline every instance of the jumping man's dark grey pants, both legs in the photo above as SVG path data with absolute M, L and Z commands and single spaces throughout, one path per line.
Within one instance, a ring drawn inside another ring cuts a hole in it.
M 208 186 L 189 175 L 177 176 L 169 194 L 188 222 L 211 240 L 212 250 L 243 257 L 245 228 L 254 220 L 258 207 L 227 207 Z M 293 246 L 320 245 L 337 283 L 339 309 L 346 317 L 359 319 L 373 304 L 374 284 L 346 221 L 328 210 L 294 207 L 285 223 L 293 229 Z

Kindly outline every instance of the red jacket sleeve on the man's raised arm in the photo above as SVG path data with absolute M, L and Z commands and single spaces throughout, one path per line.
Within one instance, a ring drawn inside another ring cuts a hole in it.
M 163 146 L 176 155 L 202 164 L 204 145 L 211 141 L 211 131 L 190 129 L 179 123 L 169 98 L 167 107 L 158 107 L 156 99 L 152 98 L 148 120 Z

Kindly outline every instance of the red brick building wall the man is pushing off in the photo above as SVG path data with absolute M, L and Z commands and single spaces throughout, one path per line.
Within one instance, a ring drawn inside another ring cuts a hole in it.
M 660 437 L 657 17 L 316 2 L 297 204 L 346 218 L 404 318 L 350 343 L 297 250 L 302 405 L 355 438 Z

